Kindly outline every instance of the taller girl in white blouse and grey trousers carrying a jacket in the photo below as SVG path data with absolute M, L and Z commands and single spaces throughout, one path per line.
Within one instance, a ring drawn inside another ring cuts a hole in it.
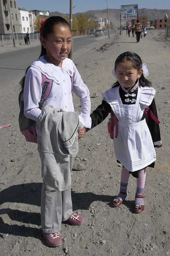
M 41 132 L 43 130 L 40 129 L 40 118 L 44 113 L 44 109 L 49 110 L 51 106 L 55 109 L 59 109 L 59 111 L 61 109 L 61 111 L 63 111 L 62 113 L 66 111 L 69 112 L 70 115 L 74 113 L 71 93 L 73 91 L 81 101 L 79 120 L 85 127 L 90 128 L 91 102 L 89 90 L 83 83 L 75 64 L 72 60 L 66 58 L 71 50 L 71 29 L 69 23 L 62 17 L 52 16 L 47 20 L 41 21 L 40 31 L 41 55 L 38 60 L 34 61 L 33 64 L 27 68 L 26 76 L 21 80 L 21 84 L 24 89 L 24 114 L 26 117 L 36 121 L 38 151 L 41 157 L 41 175 L 43 179 L 41 192 L 41 228 L 47 243 L 51 246 L 58 246 L 62 243 L 60 234 L 62 221 L 67 221 L 72 225 L 80 225 L 84 222 L 84 218 L 72 211 L 71 186 L 67 189 L 58 190 L 57 185 L 54 184 L 61 182 L 60 179 L 62 179 L 62 175 L 65 175 L 64 173 L 70 172 L 74 158 L 70 159 L 71 166 L 69 166 L 69 168 L 66 166 L 64 160 L 61 159 L 61 155 L 51 156 L 51 154 L 48 154 L 49 157 L 46 156 L 47 161 L 44 163 L 42 159 L 44 151 L 41 150 L 41 148 L 47 148 L 48 145 L 56 147 L 57 145 L 57 147 L 61 147 L 62 149 L 63 146 L 61 142 L 63 141 L 64 143 L 67 141 L 64 139 L 61 141 L 61 139 L 55 140 L 56 138 L 51 138 L 52 133 L 48 133 L 50 127 L 47 126 L 46 134 L 51 141 L 48 141 L 48 144 L 43 144 L 42 141 L 47 138 L 41 138 Z M 44 76 L 46 79 L 52 79 L 52 87 L 40 110 L 39 103 L 42 95 L 41 83 L 42 77 Z M 53 119 L 55 119 L 56 111 L 54 116 L 52 116 Z M 51 122 L 50 119 L 49 122 Z M 71 123 L 69 126 L 66 120 L 66 124 L 68 127 L 64 127 L 64 124 L 61 124 L 63 126 L 59 128 L 60 130 L 62 127 L 63 129 L 67 128 L 69 132 L 70 129 L 72 129 Z M 54 130 L 51 132 L 54 132 Z M 65 150 L 67 152 L 67 149 Z M 54 158 L 56 160 L 55 164 L 62 166 L 63 174 L 57 174 L 55 170 L 53 172 L 50 171 L 53 168 Z M 44 165 L 47 164 L 48 168 L 46 168 L 45 171 L 43 168 Z M 67 180 L 63 178 L 62 182 L 67 183 Z M 69 182 L 71 182 L 71 180 Z

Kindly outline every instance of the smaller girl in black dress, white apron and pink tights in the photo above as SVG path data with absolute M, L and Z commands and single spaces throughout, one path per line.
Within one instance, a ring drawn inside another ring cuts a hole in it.
M 113 206 L 121 206 L 127 197 L 131 173 L 137 179 L 134 212 L 139 213 L 144 211 L 146 167 L 154 167 L 154 147 L 162 145 L 154 100 L 156 91 L 146 79 L 146 64 L 142 63 L 141 58 L 134 52 L 120 54 L 112 73 L 117 82 L 103 93 L 101 105 L 92 112 L 91 128 L 103 122 L 108 114 L 112 113 L 108 132 L 112 139 L 115 135 L 115 156 L 117 162 L 122 163 L 120 192 L 113 200 Z

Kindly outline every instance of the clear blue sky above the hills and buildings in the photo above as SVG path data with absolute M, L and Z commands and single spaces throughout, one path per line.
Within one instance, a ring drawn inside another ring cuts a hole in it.
M 105 0 L 72 0 L 73 13 L 86 12 L 89 10 L 102 10 L 106 9 Z M 124 4 L 138 4 L 138 8 L 148 9 L 170 9 L 170 0 L 107 0 L 108 8 L 120 9 Z M 58 11 L 62 13 L 69 13 L 70 1 L 69 0 L 18 0 L 18 7 L 25 8 L 26 10 L 48 10 L 50 12 Z

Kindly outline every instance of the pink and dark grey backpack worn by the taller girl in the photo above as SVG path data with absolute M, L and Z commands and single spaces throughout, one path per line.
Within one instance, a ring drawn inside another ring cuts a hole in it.
M 48 97 L 49 92 L 51 91 L 51 86 L 53 80 L 47 78 L 45 75 L 42 75 L 42 95 L 41 95 L 41 100 L 39 102 L 39 108 L 42 108 L 42 105 L 44 104 L 45 100 Z M 71 78 L 71 92 L 73 88 L 73 77 L 70 76 Z M 37 133 L 36 133 L 36 122 L 32 119 L 27 118 L 24 115 L 24 99 L 23 99 L 23 90 L 19 93 L 19 129 L 20 132 L 25 136 L 26 141 L 29 142 L 34 142 L 37 143 Z

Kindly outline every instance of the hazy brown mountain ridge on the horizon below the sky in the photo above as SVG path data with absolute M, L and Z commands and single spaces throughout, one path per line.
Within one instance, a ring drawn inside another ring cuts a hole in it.
M 69 13 L 63 14 L 61 12 L 51 12 L 52 15 L 69 15 Z M 87 14 L 90 18 L 98 19 L 107 19 L 107 9 L 104 10 L 90 10 L 87 12 L 77 12 L 74 15 L 78 14 Z M 168 17 L 170 17 L 170 10 L 158 10 L 158 9 L 138 9 L 138 14 L 139 16 L 148 16 L 148 19 L 163 19 L 164 15 L 167 14 Z M 117 22 L 120 22 L 120 9 L 108 9 L 108 15 L 109 15 L 109 20 L 112 21 L 113 24 L 115 24 L 115 18 Z M 117 23 L 119 25 L 119 23 Z

